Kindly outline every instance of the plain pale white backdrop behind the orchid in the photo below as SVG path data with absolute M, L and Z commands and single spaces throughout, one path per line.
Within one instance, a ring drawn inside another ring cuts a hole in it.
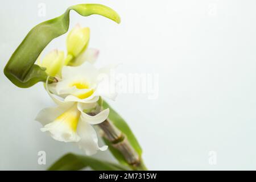
M 40 3 L 46 16 L 39 16 Z M 77 3 L 102 3 L 121 24 L 71 13 L 91 29 L 97 66 L 122 63 L 122 73 L 159 75 L 159 97 L 119 94 L 110 104 L 129 123 L 149 169 L 256 169 L 256 2 L 3 1 L 0 11 L 0 169 L 46 169 L 67 152 L 82 152 L 42 133 L 34 121 L 53 106 L 42 84 L 20 89 L 3 68 L 27 32 Z M 45 52 L 65 50 L 65 35 Z M 38 164 L 46 151 L 47 164 Z M 108 158 L 98 152 L 97 158 Z M 109 157 L 109 160 L 113 158 Z

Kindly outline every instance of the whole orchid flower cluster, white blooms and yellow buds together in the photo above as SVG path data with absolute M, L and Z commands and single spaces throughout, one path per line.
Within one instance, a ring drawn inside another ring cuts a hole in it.
M 92 126 L 104 122 L 109 115 L 109 109 L 101 110 L 98 102 L 101 96 L 114 100 L 116 94 L 100 89 L 101 75 L 108 75 L 110 67 L 94 67 L 98 50 L 88 48 L 89 34 L 89 28 L 76 26 L 67 36 L 66 57 L 63 51 L 53 50 L 38 61 L 58 82 L 49 85 L 46 82 L 46 90 L 57 106 L 41 110 L 36 121 L 42 123 L 41 130 L 53 139 L 77 142 L 87 155 L 92 155 L 108 148 L 98 146 Z

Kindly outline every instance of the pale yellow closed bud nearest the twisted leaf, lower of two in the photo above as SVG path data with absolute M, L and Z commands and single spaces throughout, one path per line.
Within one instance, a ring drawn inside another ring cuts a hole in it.
M 42 61 L 39 60 L 39 65 L 46 68 L 47 75 L 57 75 L 64 65 L 64 52 L 57 49 L 49 52 Z

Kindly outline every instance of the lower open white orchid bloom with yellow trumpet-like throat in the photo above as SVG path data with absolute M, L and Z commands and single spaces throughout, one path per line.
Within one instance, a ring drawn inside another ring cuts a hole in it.
M 84 113 L 84 110 L 96 107 L 97 103 L 57 102 L 57 107 L 48 107 L 37 115 L 36 121 L 44 126 L 41 131 L 48 131 L 53 139 L 61 142 L 77 142 L 86 155 L 108 148 L 98 146 L 97 134 L 92 125 L 104 122 L 108 118 L 109 109 L 92 116 Z

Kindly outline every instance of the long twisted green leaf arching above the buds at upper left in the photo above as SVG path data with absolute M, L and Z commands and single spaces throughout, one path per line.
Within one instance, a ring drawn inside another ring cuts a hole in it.
M 98 14 L 120 23 L 119 15 L 112 9 L 98 4 L 81 4 L 69 7 L 63 15 L 40 23 L 28 32 L 26 38 L 8 61 L 4 73 L 16 86 L 28 88 L 39 81 L 46 81 L 45 69 L 35 65 L 43 49 L 69 27 L 69 12 L 75 10 L 82 16 Z M 51 81 L 53 78 L 50 78 Z

